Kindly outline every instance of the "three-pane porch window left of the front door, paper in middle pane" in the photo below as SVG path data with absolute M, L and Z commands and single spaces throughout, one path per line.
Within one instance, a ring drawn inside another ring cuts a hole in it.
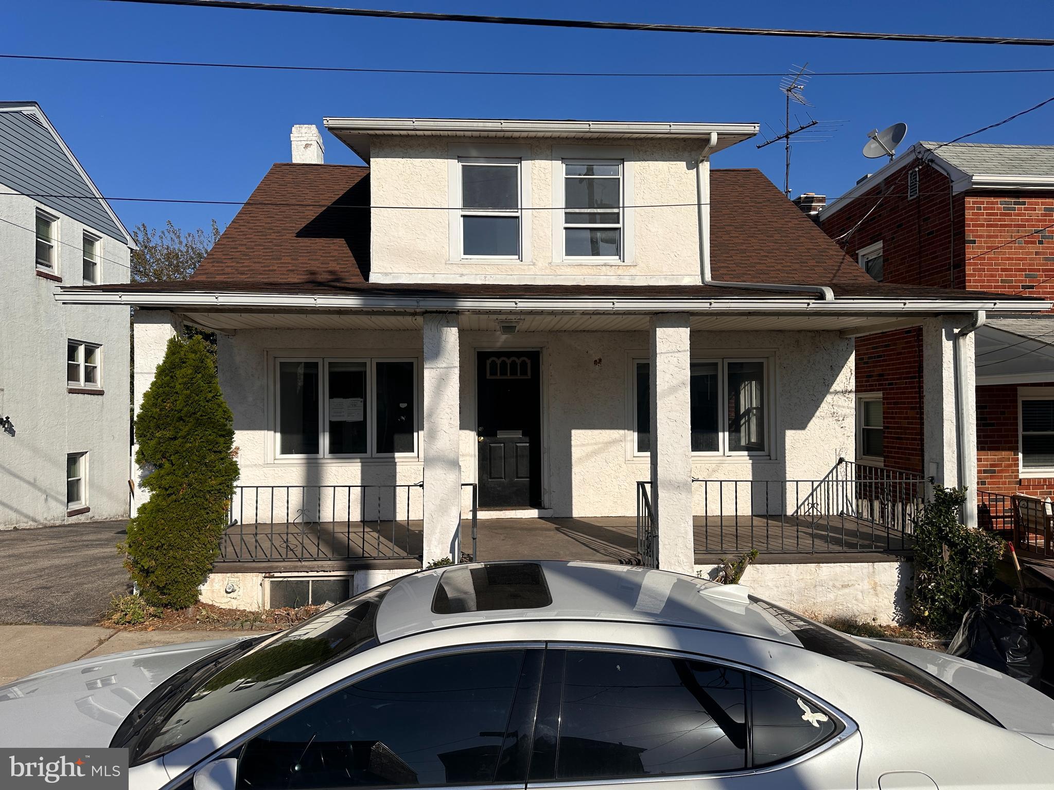
M 414 455 L 416 376 L 413 359 L 276 359 L 275 455 Z

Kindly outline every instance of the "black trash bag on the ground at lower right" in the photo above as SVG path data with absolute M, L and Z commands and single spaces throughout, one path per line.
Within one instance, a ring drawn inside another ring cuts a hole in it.
M 1043 651 L 1029 633 L 1024 615 L 1009 604 L 971 607 L 948 652 L 1039 688 Z

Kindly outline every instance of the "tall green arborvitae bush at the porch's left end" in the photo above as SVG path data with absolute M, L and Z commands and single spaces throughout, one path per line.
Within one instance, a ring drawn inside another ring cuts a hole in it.
M 154 606 L 195 604 L 219 553 L 238 476 L 234 418 L 200 337 L 174 337 L 135 420 L 150 499 L 129 522 L 124 567 Z

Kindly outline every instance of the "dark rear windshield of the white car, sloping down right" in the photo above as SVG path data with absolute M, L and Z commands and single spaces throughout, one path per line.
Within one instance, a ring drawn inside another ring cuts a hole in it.
M 1001 727 L 983 708 L 914 664 L 910 664 L 892 653 L 886 653 L 884 650 L 879 650 L 865 641 L 846 636 L 833 628 L 797 615 L 775 604 L 769 604 L 767 600 L 755 598 L 753 595 L 750 600 L 789 628 L 805 650 L 837 658 L 882 677 L 889 677 L 891 680 L 896 680 L 903 686 L 932 696 L 934 699 L 951 705 L 963 713 L 976 716 L 982 722 Z

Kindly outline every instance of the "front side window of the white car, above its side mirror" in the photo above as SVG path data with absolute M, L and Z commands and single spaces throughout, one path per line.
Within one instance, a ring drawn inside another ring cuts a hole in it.
M 250 740 L 238 788 L 492 783 L 500 763 L 507 769 L 503 745 L 525 657 L 539 652 L 437 656 L 347 686 Z

